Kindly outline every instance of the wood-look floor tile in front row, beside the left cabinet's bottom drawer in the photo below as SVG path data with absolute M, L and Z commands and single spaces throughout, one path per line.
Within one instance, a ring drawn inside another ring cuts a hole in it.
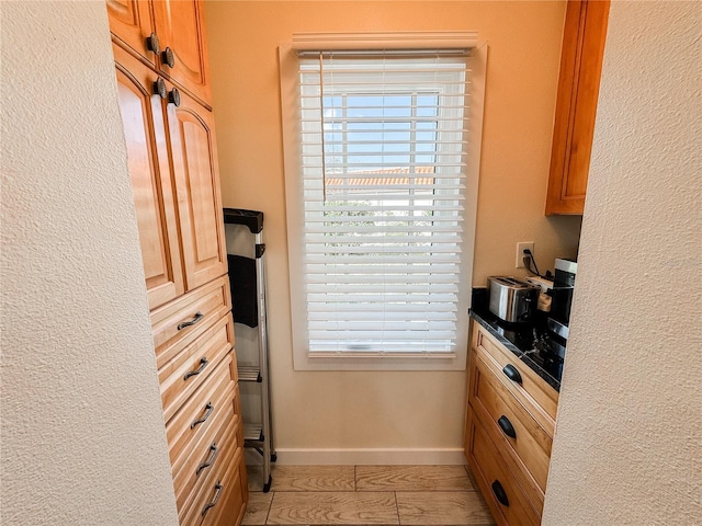
M 267 524 L 399 524 L 392 492 L 276 492 Z

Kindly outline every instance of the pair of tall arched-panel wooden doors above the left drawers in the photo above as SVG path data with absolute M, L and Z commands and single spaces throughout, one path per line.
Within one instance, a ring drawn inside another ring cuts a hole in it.
M 214 116 L 122 47 L 113 49 L 154 309 L 227 272 Z M 159 79 L 166 99 L 156 93 Z

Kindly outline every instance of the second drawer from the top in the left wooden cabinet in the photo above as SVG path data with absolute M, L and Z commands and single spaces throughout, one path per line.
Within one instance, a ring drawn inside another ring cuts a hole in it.
M 158 371 L 163 419 L 168 422 L 210 377 L 234 344 L 231 315 L 220 318 Z

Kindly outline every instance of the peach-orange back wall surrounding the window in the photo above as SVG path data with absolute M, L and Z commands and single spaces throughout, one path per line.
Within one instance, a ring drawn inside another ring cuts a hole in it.
M 473 276 L 485 285 L 516 271 L 518 241 L 536 242 L 542 272 L 576 253 L 579 218 L 544 217 L 564 13 L 563 2 L 206 2 L 224 204 L 265 213 L 279 450 L 449 448 L 460 461 L 465 411 L 462 371 L 293 370 L 279 44 L 304 32 L 468 30 L 488 42 Z

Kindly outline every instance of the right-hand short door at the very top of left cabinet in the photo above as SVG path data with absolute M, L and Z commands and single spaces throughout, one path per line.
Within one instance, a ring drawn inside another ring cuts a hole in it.
M 173 67 L 161 61 L 161 71 L 211 104 L 205 12 L 201 0 L 154 0 L 154 19 L 161 47 L 170 48 Z

